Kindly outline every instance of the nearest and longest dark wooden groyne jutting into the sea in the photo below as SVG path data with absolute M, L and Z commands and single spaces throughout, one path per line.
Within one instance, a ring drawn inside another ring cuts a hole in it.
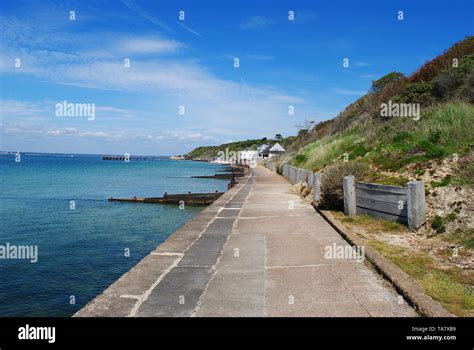
M 209 205 L 222 196 L 223 192 L 168 194 L 163 197 L 132 197 L 132 198 L 109 198 L 110 202 L 132 202 L 132 203 L 158 203 L 158 204 L 182 204 L 185 205 Z

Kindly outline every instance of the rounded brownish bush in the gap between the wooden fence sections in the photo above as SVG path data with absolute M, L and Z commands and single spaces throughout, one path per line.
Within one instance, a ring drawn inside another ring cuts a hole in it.
M 328 166 L 323 171 L 321 179 L 320 207 L 329 210 L 343 210 L 343 177 L 354 175 L 356 180 L 361 180 L 365 174 L 367 174 L 367 166 L 361 163 L 343 162 Z

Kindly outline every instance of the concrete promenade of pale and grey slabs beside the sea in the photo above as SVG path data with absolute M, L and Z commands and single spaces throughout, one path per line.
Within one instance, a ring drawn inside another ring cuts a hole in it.
M 416 316 L 283 177 L 258 166 L 75 316 Z

